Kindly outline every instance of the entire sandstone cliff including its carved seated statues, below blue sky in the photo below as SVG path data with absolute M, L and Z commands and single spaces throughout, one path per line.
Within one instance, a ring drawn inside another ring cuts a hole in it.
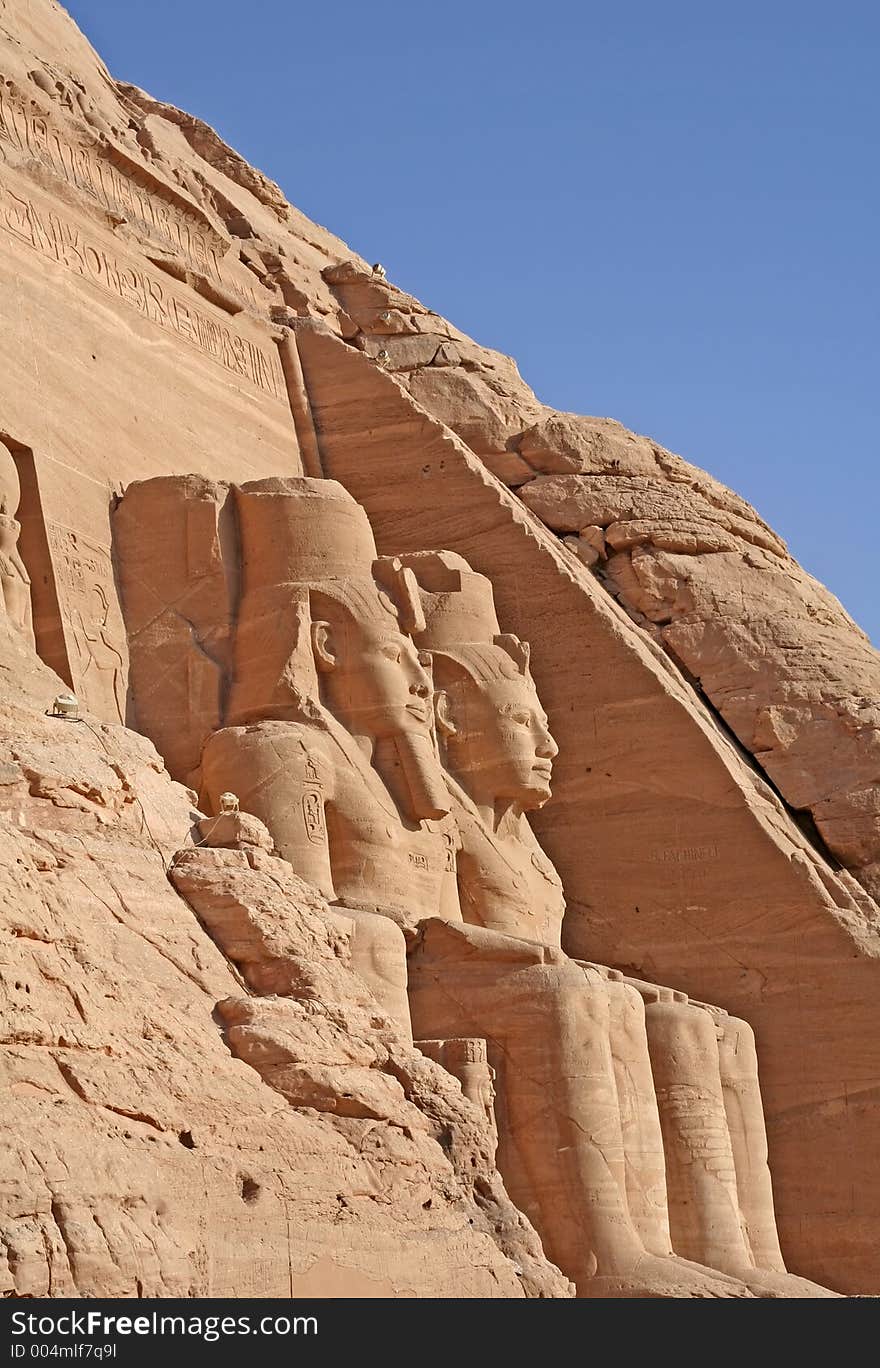
M 877 654 L 53 0 L 0 59 L 5 1289 L 877 1290 Z

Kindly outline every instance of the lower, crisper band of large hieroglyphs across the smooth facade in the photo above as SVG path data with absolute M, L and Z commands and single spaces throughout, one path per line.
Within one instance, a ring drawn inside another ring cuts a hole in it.
M 260 347 L 178 298 L 141 267 L 123 265 L 55 211 L 38 211 L 30 200 L 3 187 L 0 226 L 51 261 L 118 295 L 152 323 L 178 334 L 233 375 L 272 398 L 282 397 L 272 360 Z

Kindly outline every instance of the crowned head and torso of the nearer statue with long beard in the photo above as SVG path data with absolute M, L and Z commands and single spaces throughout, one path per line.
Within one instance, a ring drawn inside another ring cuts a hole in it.
M 204 747 L 203 803 L 216 810 L 234 787 L 278 852 L 356 919 L 359 967 L 409 1030 L 400 926 L 461 915 L 431 680 L 404 629 L 422 625 L 417 588 L 378 558 L 367 514 L 335 482 L 234 492 L 231 725 Z

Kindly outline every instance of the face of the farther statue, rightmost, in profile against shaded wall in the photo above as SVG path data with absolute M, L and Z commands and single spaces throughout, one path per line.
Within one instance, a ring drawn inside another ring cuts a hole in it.
M 456 769 L 476 795 L 542 807 L 558 747 L 530 679 L 460 684 L 450 696 Z

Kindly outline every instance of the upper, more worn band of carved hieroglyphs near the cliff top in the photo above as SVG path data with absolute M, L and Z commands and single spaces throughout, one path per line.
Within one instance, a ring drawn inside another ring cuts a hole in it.
M 105 209 L 135 222 L 151 237 L 186 253 L 201 271 L 220 279 L 215 244 L 178 204 L 168 204 L 107 160 L 93 146 L 71 146 L 41 114 L 25 108 L 0 88 L 0 140 L 25 152 Z

